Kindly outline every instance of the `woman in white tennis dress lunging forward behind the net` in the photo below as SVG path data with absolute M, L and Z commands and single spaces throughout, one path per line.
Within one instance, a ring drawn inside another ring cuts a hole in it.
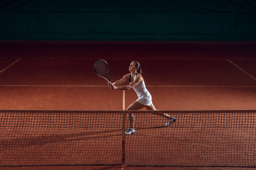
M 154 104 L 152 103 L 152 97 L 149 91 L 146 89 L 144 79 L 142 77 L 142 69 L 140 67 L 139 62 L 132 61 L 129 64 L 129 72 L 130 74 L 125 74 L 122 79 L 115 81 L 114 83 L 109 83 L 109 86 L 112 90 L 129 90 L 134 89 L 136 92 L 138 99 L 134 101 L 130 106 L 128 106 L 127 110 L 139 110 L 142 108 L 146 108 L 147 110 L 156 110 Z M 119 86 L 124 82 L 129 81 L 129 85 L 127 86 Z M 165 126 L 169 126 L 176 121 L 176 118 L 172 117 L 166 113 L 156 113 L 167 119 L 167 123 Z M 130 128 L 125 131 L 126 135 L 132 135 L 135 133 L 134 128 L 134 114 L 129 113 L 129 124 Z

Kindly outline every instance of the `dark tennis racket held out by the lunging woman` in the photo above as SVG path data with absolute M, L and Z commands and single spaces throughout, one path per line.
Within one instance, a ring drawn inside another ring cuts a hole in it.
M 95 73 L 110 83 L 109 71 L 110 67 L 105 60 L 97 60 L 95 62 Z

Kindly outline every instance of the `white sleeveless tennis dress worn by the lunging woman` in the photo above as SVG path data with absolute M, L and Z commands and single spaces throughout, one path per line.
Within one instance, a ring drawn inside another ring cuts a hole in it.
M 131 81 L 132 74 L 130 74 L 129 77 L 129 83 L 132 83 Z M 137 77 L 137 74 L 135 75 L 134 79 Z M 146 89 L 145 82 L 142 81 L 137 86 L 134 86 L 132 89 L 136 92 L 138 99 L 136 100 L 137 102 L 145 105 L 145 106 L 150 106 L 152 103 L 152 97 L 149 91 Z

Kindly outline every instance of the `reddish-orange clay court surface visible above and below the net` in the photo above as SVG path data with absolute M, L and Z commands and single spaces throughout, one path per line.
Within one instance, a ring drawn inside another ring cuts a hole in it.
M 0 109 L 122 110 L 134 91 L 112 91 L 93 65 L 105 59 L 110 80 L 132 60 L 159 110 L 256 109 L 255 42 L 0 41 Z M 0 169 L 238 170 L 225 167 L 26 166 Z M 248 168 L 246 168 L 248 169 Z

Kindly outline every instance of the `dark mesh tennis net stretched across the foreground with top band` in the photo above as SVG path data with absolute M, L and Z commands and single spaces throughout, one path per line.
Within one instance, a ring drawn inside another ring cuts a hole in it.
M 125 136 L 129 113 L 136 133 Z M 255 113 L 1 110 L 0 166 L 255 167 Z

